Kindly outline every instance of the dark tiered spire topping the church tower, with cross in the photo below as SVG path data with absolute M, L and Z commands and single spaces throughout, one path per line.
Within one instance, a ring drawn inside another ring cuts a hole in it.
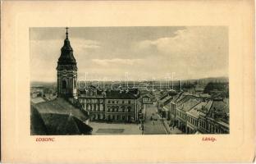
M 68 39 L 67 29 L 66 39 L 64 40 L 64 45 L 61 51 L 61 57 L 58 58 L 57 62 L 57 70 L 77 70 L 75 57 L 73 55 L 73 48 L 71 48 L 71 43 Z

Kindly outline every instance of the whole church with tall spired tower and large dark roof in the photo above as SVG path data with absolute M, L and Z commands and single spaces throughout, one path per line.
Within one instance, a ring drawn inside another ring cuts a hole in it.
M 92 133 L 93 128 L 88 125 L 88 113 L 74 101 L 77 99 L 76 83 L 77 67 L 66 28 L 66 39 L 57 62 L 57 98 L 43 102 L 31 101 L 30 134 Z

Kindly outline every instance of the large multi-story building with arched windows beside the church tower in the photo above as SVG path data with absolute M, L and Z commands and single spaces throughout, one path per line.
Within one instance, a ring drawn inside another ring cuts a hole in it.
M 101 90 L 90 86 L 79 91 L 79 102 L 89 112 L 90 121 L 138 121 L 139 90 Z

